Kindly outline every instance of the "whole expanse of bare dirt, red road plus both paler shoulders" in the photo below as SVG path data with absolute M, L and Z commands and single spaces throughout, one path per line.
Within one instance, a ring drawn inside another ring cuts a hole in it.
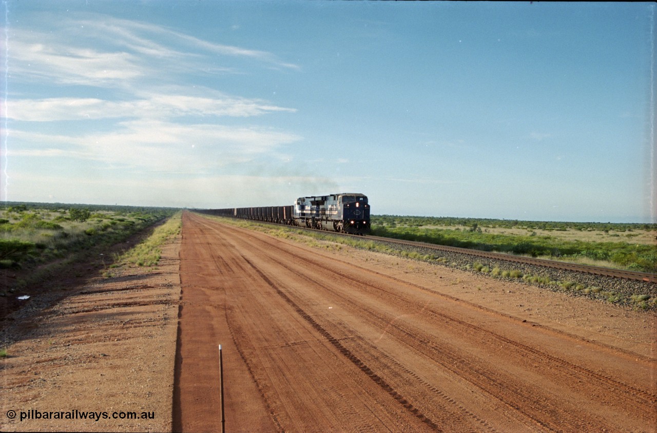
M 220 431 L 219 344 L 227 432 L 657 430 L 651 313 L 193 213 L 88 272 L 5 327 L 0 430 Z

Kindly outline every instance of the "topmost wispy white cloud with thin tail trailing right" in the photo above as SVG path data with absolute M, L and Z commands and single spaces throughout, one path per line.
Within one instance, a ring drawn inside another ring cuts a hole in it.
M 162 71 L 239 72 L 232 65 L 217 66 L 217 55 L 251 59 L 265 68 L 299 69 L 271 52 L 204 41 L 154 24 L 85 15 L 64 20 L 52 16 L 52 31 L 12 29 L 5 41 L 11 52 L 9 73 L 17 79 L 123 88 L 137 79 L 161 79 Z

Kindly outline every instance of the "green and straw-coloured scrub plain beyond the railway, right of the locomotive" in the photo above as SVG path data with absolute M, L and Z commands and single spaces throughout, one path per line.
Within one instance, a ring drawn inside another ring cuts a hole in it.
M 627 270 L 657 272 L 657 224 L 377 215 L 372 234 Z

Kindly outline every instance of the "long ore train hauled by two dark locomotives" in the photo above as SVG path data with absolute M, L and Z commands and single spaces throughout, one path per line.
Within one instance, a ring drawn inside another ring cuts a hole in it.
M 299 197 L 291 206 L 231 207 L 198 212 L 350 234 L 365 234 L 370 229 L 367 196 L 359 193 Z

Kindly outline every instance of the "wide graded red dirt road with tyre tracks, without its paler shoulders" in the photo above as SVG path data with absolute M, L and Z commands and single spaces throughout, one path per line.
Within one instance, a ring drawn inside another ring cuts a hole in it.
M 173 430 L 654 432 L 655 360 L 183 215 Z M 441 277 L 442 278 L 442 277 Z M 445 281 L 443 279 L 443 281 Z

